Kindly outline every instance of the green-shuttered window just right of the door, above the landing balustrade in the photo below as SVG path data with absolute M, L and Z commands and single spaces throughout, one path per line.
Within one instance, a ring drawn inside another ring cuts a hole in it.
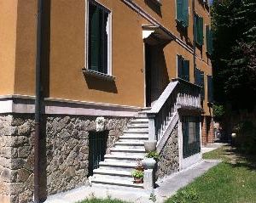
M 177 55 L 177 77 L 189 82 L 189 60 Z

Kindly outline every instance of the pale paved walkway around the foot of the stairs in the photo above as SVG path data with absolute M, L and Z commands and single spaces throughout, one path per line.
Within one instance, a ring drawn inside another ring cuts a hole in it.
M 168 197 L 174 195 L 178 189 L 183 188 L 188 183 L 191 183 L 195 178 L 200 177 L 204 172 L 207 172 L 212 166 L 216 166 L 219 161 L 201 161 L 182 172 L 172 174 L 158 182 L 159 187 L 154 189 L 156 202 L 161 203 Z M 146 192 L 143 189 L 127 189 L 122 187 L 81 187 L 58 195 L 49 196 L 45 203 L 75 203 L 90 197 L 98 198 L 116 198 L 119 200 L 131 201 L 134 203 L 150 203 L 151 192 Z

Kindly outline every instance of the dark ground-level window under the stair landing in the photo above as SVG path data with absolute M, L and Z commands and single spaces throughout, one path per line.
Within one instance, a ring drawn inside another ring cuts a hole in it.
M 195 155 L 201 151 L 200 117 L 183 116 L 183 158 Z

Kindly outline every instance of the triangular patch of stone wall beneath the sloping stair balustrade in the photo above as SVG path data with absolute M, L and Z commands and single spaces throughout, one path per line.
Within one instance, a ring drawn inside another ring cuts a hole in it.
M 160 160 L 157 163 L 156 178 L 164 178 L 179 169 L 177 124 L 172 130 L 170 138 L 160 152 Z

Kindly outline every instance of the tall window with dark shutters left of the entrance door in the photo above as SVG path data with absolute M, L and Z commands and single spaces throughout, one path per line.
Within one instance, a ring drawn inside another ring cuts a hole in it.
M 88 70 L 111 75 L 110 72 L 110 11 L 94 0 L 89 1 Z

